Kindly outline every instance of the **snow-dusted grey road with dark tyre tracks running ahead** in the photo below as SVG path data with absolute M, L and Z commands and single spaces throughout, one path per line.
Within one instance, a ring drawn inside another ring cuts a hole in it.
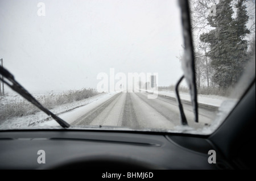
M 99 106 L 84 112 L 71 125 L 102 125 L 134 129 L 174 129 L 180 125 L 179 109 L 176 100 L 158 96 L 148 99 L 144 92 L 120 92 Z M 207 107 L 199 108 L 199 123 L 193 121 L 191 105 L 184 103 L 184 111 L 188 124 L 200 128 L 210 124 L 216 115 L 215 110 Z

